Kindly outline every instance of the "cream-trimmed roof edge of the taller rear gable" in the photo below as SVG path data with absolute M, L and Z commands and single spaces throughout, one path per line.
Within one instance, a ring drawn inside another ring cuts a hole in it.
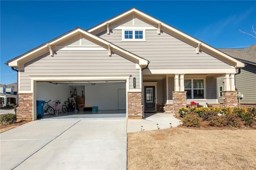
M 214 48 L 214 47 L 212 47 L 212 46 L 210 46 L 192 36 L 189 36 L 188 34 L 182 32 L 182 31 L 180 31 L 180 30 L 136 9 L 136 8 L 131 8 L 130 10 L 127 10 L 127 11 L 123 12 L 122 14 L 114 16 L 113 18 L 110 18 L 109 20 L 106 20 L 106 21 L 88 29 L 87 31 L 91 32 L 93 34 L 98 34 L 100 32 L 97 32 L 97 30 L 102 30 L 102 28 L 107 27 L 107 24 L 112 24 L 130 14 L 137 14 L 138 16 L 145 18 L 157 25 L 161 24 L 161 30 L 163 30 L 164 32 L 170 33 L 172 36 L 179 38 L 180 40 L 187 42 L 194 47 L 197 47 L 199 44 L 201 44 L 200 50 L 208 53 L 209 55 L 215 56 L 217 58 L 220 57 L 220 58 L 224 59 L 225 61 L 229 61 L 229 62 L 233 63 L 235 68 L 244 67 L 244 63 L 238 61 L 237 59 L 233 58 L 232 56 L 230 56 L 226 53 L 223 53 L 222 51 L 220 51 L 220 50 L 218 50 L 218 49 L 216 49 L 216 48 Z

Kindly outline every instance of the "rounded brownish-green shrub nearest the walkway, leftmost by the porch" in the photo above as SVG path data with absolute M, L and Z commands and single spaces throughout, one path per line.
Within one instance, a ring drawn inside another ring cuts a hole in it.
M 194 112 L 188 112 L 183 119 L 183 125 L 186 127 L 200 127 L 200 122 L 200 117 Z

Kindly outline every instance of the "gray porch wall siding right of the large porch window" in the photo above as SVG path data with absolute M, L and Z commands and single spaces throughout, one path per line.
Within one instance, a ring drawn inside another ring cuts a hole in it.
M 206 77 L 206 99 L 217 99 L 216 79 Z

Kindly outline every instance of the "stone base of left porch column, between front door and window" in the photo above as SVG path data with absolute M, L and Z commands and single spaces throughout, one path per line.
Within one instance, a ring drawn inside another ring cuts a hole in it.
M 186 91 L 173 91 L 172 92 L 172 100 L 173 100 L 173 113 L 178 114 L 179 109 L 182 107 L 186 107 L 187 103 L 187 92 Z

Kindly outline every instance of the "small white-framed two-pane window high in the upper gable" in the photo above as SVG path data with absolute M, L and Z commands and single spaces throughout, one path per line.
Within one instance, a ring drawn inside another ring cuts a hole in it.
M 124 30 L 123 41 L 145 41 L 145 30 Z

